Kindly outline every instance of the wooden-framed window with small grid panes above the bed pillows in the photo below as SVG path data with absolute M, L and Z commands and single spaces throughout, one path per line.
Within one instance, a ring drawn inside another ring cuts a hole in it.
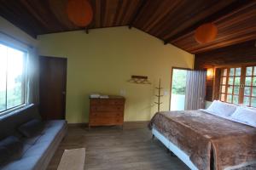
M 232 104 L 256 107 L 256 66 L 222 69 L 219 98 Z

